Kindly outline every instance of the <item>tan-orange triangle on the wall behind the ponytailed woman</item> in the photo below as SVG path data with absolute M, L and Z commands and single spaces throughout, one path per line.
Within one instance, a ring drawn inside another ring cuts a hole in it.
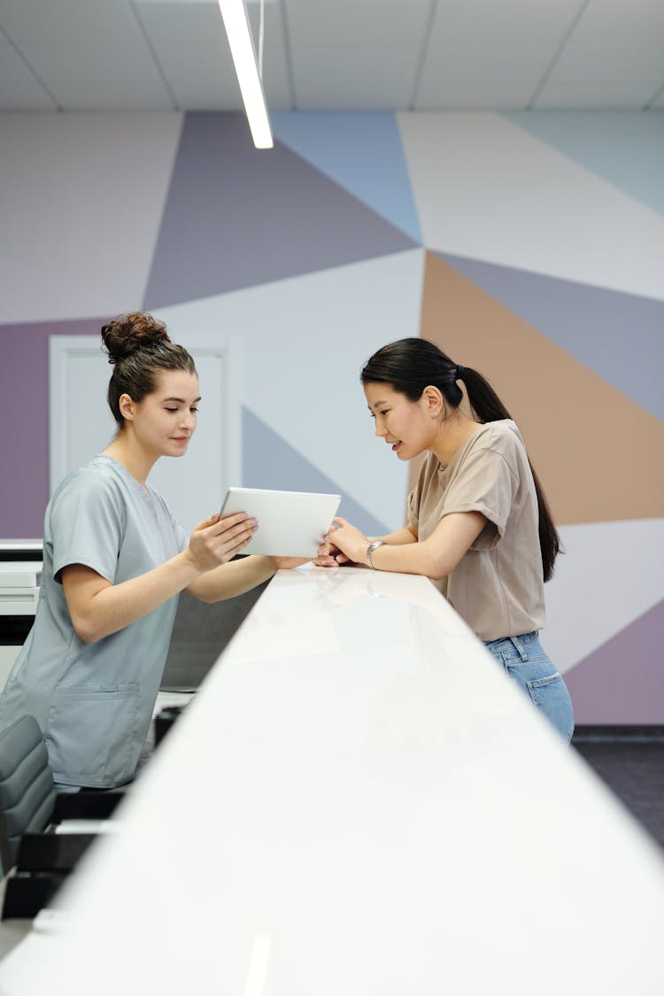
M 664 424 L 431 252 L 420 335 L 491 381 L 556 523 L 664 516 Z

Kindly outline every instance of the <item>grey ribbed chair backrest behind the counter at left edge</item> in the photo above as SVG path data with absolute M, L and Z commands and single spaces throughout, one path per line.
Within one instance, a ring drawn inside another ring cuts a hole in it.
M 34 716 L 23 716 L 0 733 L 0 861 L 16 864 L 23 834 L 48 826 L 56 802 L 49 754 Z

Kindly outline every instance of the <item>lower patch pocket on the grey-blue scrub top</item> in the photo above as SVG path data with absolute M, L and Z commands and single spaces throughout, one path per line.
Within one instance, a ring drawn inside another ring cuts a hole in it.
M 131 778 L 138 687 L 131 681 L 54 691 L 46 745 L 56 782 L 109 788 Z

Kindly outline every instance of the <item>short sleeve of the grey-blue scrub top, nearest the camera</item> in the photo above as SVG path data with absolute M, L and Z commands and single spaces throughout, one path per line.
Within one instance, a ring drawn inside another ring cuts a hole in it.
M 62 584 L 63 568 L 83 564 L 112 584 L 124 515 L 111 481 L 96 473 L 81 474 L 71 481 L 51 509 L 54 580 Z

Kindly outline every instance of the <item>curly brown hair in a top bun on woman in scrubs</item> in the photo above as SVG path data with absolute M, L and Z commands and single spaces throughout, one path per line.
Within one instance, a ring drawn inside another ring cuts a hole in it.
M 193 359 L 183 346 L 171 343 L 166 326 L 145 312 L 120 315 L 102 326 L 103 349 L 113 365 L 109 381 L 109 407 L 121 429 L 124 417 L 119 399 L 128 394 L 140 401 L 154 390 L 159 371 L 196 373 Z

